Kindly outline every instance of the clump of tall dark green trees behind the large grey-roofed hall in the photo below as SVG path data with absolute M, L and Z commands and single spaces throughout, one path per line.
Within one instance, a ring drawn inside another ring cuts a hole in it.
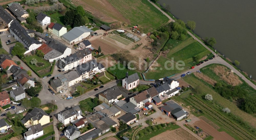
M 64 16 L 66 26 L 71 25 L 73 27 L 82 26 L 89 22 L 88 17 L 85 16 L 85 11 L 82 6 L 77 6 L 76 10 L 69 10 Z

